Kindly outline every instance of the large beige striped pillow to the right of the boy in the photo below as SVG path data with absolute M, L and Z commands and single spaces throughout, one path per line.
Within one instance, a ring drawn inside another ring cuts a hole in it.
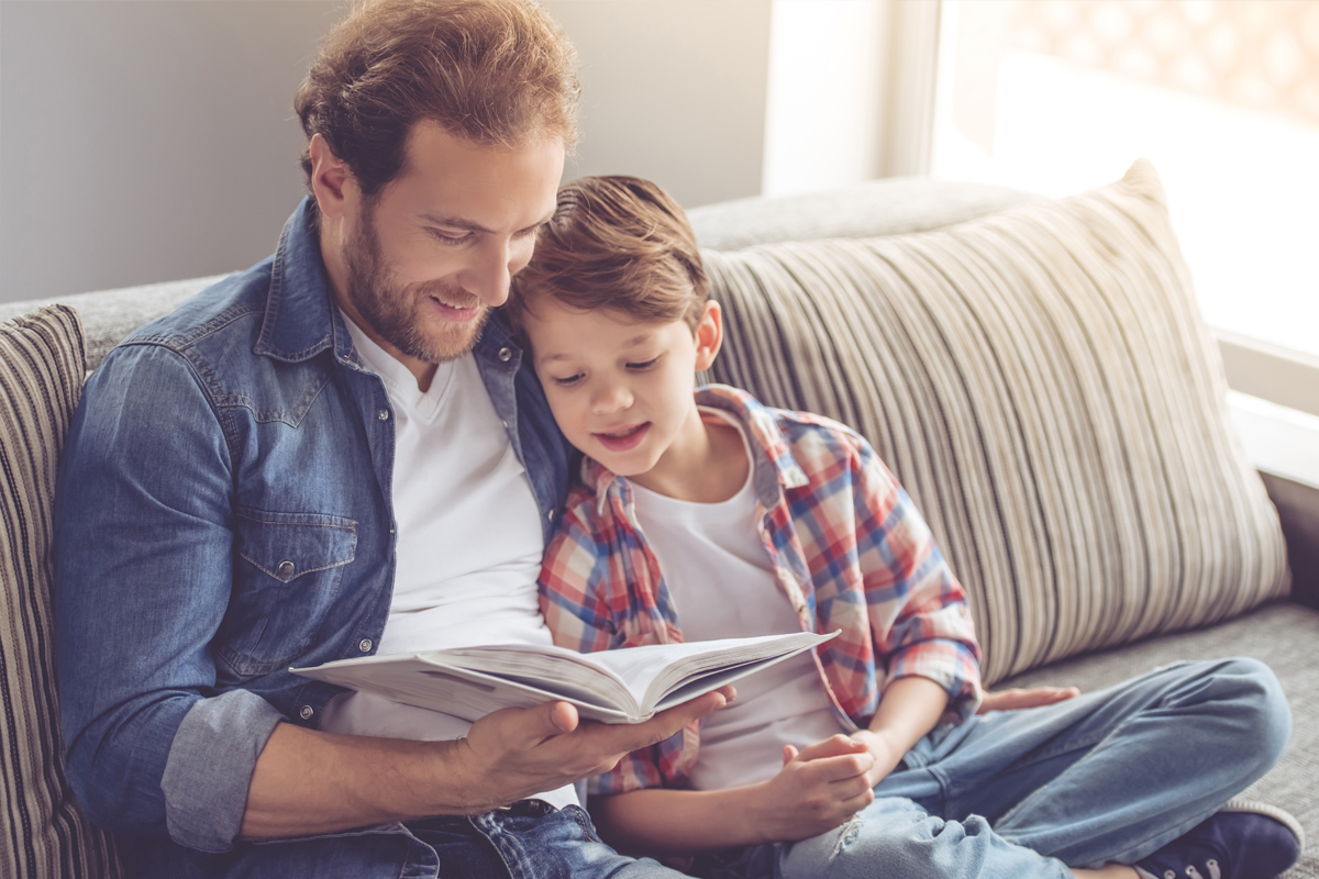
M 710 377 L 869 439 L 971 594 L 987 684 L 1287 593 L 1148 162 L 934 232 L 704 258 Z

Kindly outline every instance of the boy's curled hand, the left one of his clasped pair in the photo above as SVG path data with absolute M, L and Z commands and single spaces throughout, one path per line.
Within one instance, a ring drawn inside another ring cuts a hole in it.
M 874 800 L 867 780 L 874 759 L 861 742 L 832 735 L 798 751 L 783 746 L 783 768 L 753 805 L 765 841 L 806 839 L 839 826 Z

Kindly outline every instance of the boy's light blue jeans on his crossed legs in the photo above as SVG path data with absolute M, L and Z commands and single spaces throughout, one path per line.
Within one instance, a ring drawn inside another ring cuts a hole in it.
M 1059 879 L 1134 863 L 1282 755 L 1291 712 L 1253 659 L 1178 663 L 1111 689 L 939 727 L 843 826 L 698 859 L 711 879 Z

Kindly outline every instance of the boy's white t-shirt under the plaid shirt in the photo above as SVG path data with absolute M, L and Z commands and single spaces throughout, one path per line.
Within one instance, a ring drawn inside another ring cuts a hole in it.
M 715 409 L 747 435 L 737 422 Z M 748 460 L 751 451 L 748 447 Z M 632 484 L 637 522 L 660 571 L 687 642 L 790 634 L 802 630 L 760 540 L 756 493 L 748 476 L 720 503 L 692 503 Z M 798 749 L 842 730 L 815 662 L 799 654 L 736 683 L 737 698 L 706 717 L 692 787 L 718 791 L 773 778 L 785 745 Z

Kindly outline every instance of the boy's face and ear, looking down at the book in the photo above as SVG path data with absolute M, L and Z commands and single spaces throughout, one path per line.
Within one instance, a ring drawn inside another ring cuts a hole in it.
M 718 303 L 706 303 L 695 332 L 549 297 L 533 307 L 525 328 L 536 374 L 570 443 L 619 476 L 695 464 L 706 435 L 692 390 L 719 351 Z

